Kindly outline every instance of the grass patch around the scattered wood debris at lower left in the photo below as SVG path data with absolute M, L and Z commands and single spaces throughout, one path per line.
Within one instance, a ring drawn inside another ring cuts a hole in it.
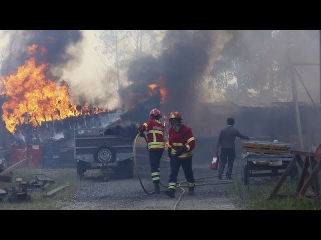
M 45 174 L 49 178 L 55 180 L 55 183 L 50 184 L 47 187 L 47 191 L 53 190 L 61 185 L 70 185 L 64 189 L 56 192 L 55 195 L 50 197 L 43 197 L 46 191 L 31 192 L 31 200 L 29 201 L 9 201 L 7 197 L 0 202 L 0 209 L 60 209 L 70 202 L 74 201 L 74 195 L 76 191 L 81 187 L 82 181 L 77 177 L 76 169 L 28 169 L 18 168 L 13 171 L 13 182 L 5 183 L 3 186 L 18 187 L 16 177 L 22 177 L 23 181 L 32 180 L 35 175 Z

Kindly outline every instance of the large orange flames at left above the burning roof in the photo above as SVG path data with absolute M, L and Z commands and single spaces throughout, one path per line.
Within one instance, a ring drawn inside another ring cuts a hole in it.
M 29 46 L 28 56 L 37 49 L 36 44 Z M 44 47 L 39 50 L 42 54 L 47 51 Z M 79 114 L 77 105 L 69 99 L 68 84 L 59 86 L 48 78 L 45 74 L 48 68 L 49 63 L 37 65 L 36 58 L 31 57 L 16 72 L 1 77 L 1 93 L 6 99 L 2 106 L 2 117 L 10 132 L 15 133 L 17 126 L 24 122 L 36 127 L 46 120 L 64 119 Z M 106 109 L 99 110 L 96 107 L 93 114 L 103 111 Z

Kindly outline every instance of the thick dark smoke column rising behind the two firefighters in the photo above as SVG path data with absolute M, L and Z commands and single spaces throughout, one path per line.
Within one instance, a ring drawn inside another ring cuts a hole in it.
M 145 56 L 133 60 L 128 69 L 130 85 L 121 96 L 137 102 L 148 97 L 148 84 L 163 76 L 168 96 L 163 109 L 166 114 L 188 112 L 197 102 L 198 84 L 209 60 L 213 31 L 169 30 L 163 39 L 159 57 Z M 128 101 L 128 100 L 127 100 Z

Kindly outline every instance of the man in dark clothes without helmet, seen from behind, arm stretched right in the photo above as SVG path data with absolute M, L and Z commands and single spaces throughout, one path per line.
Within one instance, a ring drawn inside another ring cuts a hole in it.
M 233 169 L 233 163 L 235 159 L 235 137 L 240 137 L 245 140 L 249 140 L 248 136 L 241 134 L 237 129 L 233 127 L 234 125 L 234 118 L 229 117 L 227 118 L 228 126 L 223 128 L 220 132 L 219 140 L 216 144 L 217 147 L 217 154 L 219 153 L 219 147 L 221 146 L 221 159 L 219 162 L 219 179 L 222 179 L 222 175 L 224 172 L 224 167 L 227 161 L 227 172 L 226 178 L 231 180 L 231 174 Z

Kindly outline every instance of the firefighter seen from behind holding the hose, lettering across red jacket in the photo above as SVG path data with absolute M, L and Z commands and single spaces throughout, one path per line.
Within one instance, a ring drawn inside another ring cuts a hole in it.
M 165 149 L 165 129 L 163 123 L 159 121 L 159 118 L 162 117 L 161 111 L 159 111 L 157 108 L 154 108 L 150 111 L 149 116 L 150 120 L 141 124 L 138 127 L 138 131 L 141 132 L 141 137 L 145 136 L 143 131 L 146 131 L 147 133 L 151 178 L 154 183 L 155 193 L 159 194 L 161 193 L 159 190 L 159 177 L 161 173 L 159 161 L 161 160 Z

